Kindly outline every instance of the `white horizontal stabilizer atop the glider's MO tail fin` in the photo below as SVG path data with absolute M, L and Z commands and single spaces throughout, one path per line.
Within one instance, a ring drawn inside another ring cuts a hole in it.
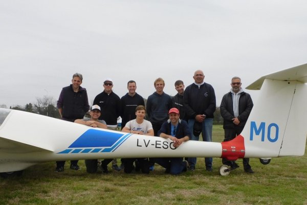
M 299 81 L 301 83 L 307 83 L 307 64 L 264 75 L 246 87 L 246 89 L 260 90 L 265 79 Z

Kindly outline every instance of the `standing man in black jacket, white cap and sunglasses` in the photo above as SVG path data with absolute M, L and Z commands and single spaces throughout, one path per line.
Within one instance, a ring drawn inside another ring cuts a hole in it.
M 117 118 L 121 112 L 120 98 L 112 91 L 113 80 L 111 78 L 104 80 L 103 88 L 103 92 L 95 97 L 93 104 L 100 107 L 101 115 L 99 119 L 105 120 L 107 129 L 117 130 Z M 112 161 L 112 169 L 120 171 L 116 159 Z

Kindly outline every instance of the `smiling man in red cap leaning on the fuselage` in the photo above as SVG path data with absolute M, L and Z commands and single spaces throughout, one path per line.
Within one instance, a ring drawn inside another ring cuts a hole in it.
M 168 111 L 169 119 L 164 122 L 158 131 L 158 136 L 173 141 L 173 147 L 178 148 L 182 142 L 190 139 L 191 133 L 185 120 L 181 120 L 179 110 L 171 108 Z M 155 158 L 155 162 L 166 168 L 166 173 L 180 174 L 187 171 L 188 162 L 183 157 Z

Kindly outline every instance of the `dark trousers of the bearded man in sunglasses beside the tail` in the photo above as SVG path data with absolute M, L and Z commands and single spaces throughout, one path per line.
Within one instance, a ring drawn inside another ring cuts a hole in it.
M 234 128 L 225 128 L 225 139 L 224 141 L 230 141 L 234 139 L 237 135 L 239 135 L 243 131 L 244 127 L 235 126 Z M 222 159 L 222 163 L 224 165 L 231 166 L 232 161 L 229 161 L 225 158 Z M 249 158 L 243 158 L 243 167 L 244 170 L 250 169 L 251 166 L 249 165 Z

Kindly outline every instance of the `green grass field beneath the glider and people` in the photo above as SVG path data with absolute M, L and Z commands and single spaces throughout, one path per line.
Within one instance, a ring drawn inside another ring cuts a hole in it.
M 223 140 L 222 126 L 214 126 L 213 141 Z M 251 159 L 254 174 L 240 168 L 219 175 L 221 159 L 206 172 L 198 158 L 194 172 L 164 174 L 156 165 L 150 174 L 111 171 L 87 174 L 69 169 L 54 172 L 55 162 L 41 163 L 23 176 L 0 179 L 0 204 L 307 204 L 307 156 L 273 158 L 269 165 Z M 109 169 L 111 170 L 111 169 Z

